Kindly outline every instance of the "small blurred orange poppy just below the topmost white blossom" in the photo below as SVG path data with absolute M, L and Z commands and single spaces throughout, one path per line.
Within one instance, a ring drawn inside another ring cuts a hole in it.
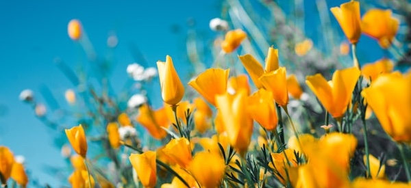
M 247 38 L 247 33 L 241 29 L 231 30 L 225 33 L 225 39 L 221 42 L 221 49 L 225 53 L 232 53 L 238 46 L 240 46 L 242 40 Z

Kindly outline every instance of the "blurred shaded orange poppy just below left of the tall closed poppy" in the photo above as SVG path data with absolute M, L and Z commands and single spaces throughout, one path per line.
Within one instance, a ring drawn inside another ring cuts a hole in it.
M 169 128 L 169 119 L 167 118 L 164 107 L 153 111 L 149 105 L 142 105 L 138 109 L 136 120 L 144 126 L 155 139 L 163 139 L 167 136 L 167 132 L 162 129 L 162 127 L 165 129 Z

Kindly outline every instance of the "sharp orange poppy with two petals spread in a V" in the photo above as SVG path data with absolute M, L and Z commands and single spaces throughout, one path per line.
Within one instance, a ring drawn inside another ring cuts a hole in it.
M 269 53 L 265 61 L 265 68 L 262 68 L 262 65 L 257 61 L 256 58 L 253 57 L 253 55 L 239 55 L 238 58 L 242 62 L 245 70 L 247 70 L 247 72 L 249 73 L 254 85 L 256 85 L 256 87 L 259 89 L 262 88 L 262 83 L 259 79 L 264 74 L 264 72 L 271 72 L 279 68 L 278 50 L 273 49 L 273 47 L 269 48 Z

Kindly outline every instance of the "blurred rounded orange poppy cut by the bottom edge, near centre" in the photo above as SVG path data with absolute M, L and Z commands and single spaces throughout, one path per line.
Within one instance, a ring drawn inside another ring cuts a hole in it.
M 188 170 L 199 181 L 201 187 L 214 188 L 224 177 L 225 161 L 220 155 L 212 152 L 197 152 Z

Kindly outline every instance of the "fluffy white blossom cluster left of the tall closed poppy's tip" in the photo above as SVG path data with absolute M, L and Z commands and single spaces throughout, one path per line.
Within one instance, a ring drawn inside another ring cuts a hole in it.
M 157 76 L 157 69 L 153 67 L 144 68 L 137 63 L 127 66 L 127 74 L 135 81 L 149 81 Z

